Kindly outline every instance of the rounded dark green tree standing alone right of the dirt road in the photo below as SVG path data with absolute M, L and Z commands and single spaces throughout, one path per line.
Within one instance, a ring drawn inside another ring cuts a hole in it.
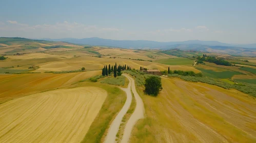
M 151 76 L 145 80 L 145 92 L 154 97 L 159 94 L 159 91 L 162 89 L 161 78 Z

